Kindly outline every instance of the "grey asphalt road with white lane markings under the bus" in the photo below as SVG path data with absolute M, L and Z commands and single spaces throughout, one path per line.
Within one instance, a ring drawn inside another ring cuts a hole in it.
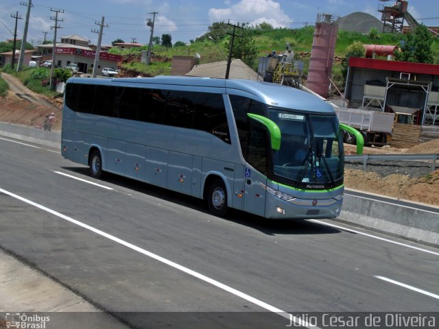
M 152 321 L 142 312 L 163 326 L 203 314 L 209 328 L 235 315 L 283 328 L 265 315 L 439 309 L 438 249 L 331 221 L 220 219 L 198 199 L 87 172 L 0 139 L 0 246 L 135 327 Z

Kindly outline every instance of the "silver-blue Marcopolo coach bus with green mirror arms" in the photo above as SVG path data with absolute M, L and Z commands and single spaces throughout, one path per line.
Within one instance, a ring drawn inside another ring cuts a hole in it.
M 67 81 L 64 158 L 272 219 L 334 218 L 344 154 L 335 112 L 301 90 L 197 77 Z

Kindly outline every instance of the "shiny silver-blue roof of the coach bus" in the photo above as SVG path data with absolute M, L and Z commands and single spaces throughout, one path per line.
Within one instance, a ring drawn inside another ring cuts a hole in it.
M 217 79 L 211 77 L 176 77 L 158 75 L 156 77 L 116 77 L 108 79 L 85 80 L 84 78 L 71 78 L 69 82 L 85 82 L 96 84 L 110 84 L 119 82 L 123 84 L 161 84 L 174 86 L 200 86 L 210 88 L 226 88 L 226 93 L 241 90 L 256 96 L 263 103 L 279 108 L 307 110 L 320 113 L 335 113 L 332 106 L 318 97 L 302 90 L 289 86 L 281 86 L 270 82 L 258 82 L 241 79 Z

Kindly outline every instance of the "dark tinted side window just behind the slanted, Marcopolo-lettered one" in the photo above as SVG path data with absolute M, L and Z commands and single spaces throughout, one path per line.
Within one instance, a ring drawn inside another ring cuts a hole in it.
M 196 95 L 196 93 L 189 91 L 169 91 L 163 123 L 176 127 L 191 128 Z

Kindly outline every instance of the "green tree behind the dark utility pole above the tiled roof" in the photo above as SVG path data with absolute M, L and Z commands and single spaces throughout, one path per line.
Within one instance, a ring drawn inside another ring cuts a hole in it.
M 238 23 L 239 25 L 239 23 Z M 257 49 L 254 45 L 254 38 L 251 36 L 250 27 L 244 23 L 241 25 L 242 29 L 235 29 L 235 33 L 239 35 L 241 30 L 241 36 L 235 36 L 232 49 L 232 57 L 239 58 L 249 66 L 253 66 L 254 60 L 257 57 Z M 227 51 L 230 49 L 230 40 L 225 44 Z

